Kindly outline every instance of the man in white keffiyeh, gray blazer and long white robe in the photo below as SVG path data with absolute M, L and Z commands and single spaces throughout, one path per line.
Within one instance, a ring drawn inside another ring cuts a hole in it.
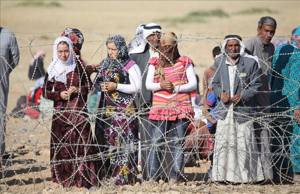
M 251 117 L 253 96 L 261 86 L 258 59 L 244 52 L 241 40 L 238 35 L 227 35 L 214 62 L 212 86 L 219 103 L 212 181 L 264 180 Z

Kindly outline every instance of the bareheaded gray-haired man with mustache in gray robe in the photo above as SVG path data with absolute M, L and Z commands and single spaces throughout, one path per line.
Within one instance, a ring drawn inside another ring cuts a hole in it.
M 257 36 L 245 43 L 245 52 L 250 55 L 256 55 L 261 64 L 259 67 L 259 76 L 262 86 L 258 89 L 257 95 L 254 96 L 254 111 L 260 121 L 254 122 L 254 129 L 265 180 L 273 179 L 273 165 L 271 161 L 272 139 L 268 121 L 268 114 L 270 113 L 270 89 L 268 83 L 275 51 L 271 40 L 275 34 L 276 26 L 274 18 L 270 16 L 260 18 L 257 27 Z

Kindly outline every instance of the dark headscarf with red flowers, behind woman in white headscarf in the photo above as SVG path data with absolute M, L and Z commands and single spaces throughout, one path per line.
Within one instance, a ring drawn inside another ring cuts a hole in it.
M 76 28 L 67 28 L 61 36 L 66 36 L 72 40 L 74 53 L 80 57 L 80 50 L 84 42 L 82 32 Z

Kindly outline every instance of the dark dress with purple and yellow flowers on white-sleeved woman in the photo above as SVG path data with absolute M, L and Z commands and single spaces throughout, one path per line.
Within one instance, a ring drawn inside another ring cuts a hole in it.
M 126 69 L 99 72 L 99 82 L 130 84 Z M 135 184 L 137 179 L 138 131 L 132 94 L 101 92 L 95 134 L 103 153 L 101 174 L 115 184 Z

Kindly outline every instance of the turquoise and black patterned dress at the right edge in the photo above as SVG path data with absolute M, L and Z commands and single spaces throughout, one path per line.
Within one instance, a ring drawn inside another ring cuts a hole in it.
M 300 109 L 299 66 L 298 47 L 283 44 L 277 48 L 270 76 L 274 178 L 285 170 L 300 173 L 300 125 L 293 119 L 293 110 Z

